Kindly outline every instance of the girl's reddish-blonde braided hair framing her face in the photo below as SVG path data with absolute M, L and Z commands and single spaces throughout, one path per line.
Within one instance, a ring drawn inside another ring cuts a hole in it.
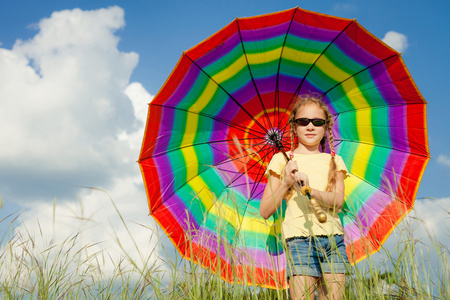
M 331 160 L 330 160 L 330 169 L 328 171 L 328 184 L 326 187 L 326 191 L 333 191 L 336 185 L 336 160 L 334 156 L 334 138 L 333 132 L 331 131 L 331 126 L 333 126 L 334 120 L 333 116 L 328 111 L 328 107 L 322 102 L 321 97 L 316 95 L 301 95 L 297 97 L 297 100 L 292 104 L 291 114 L 289 115 L 288 124 L 290 126 L 290 134 L 291 134 L 291 151 L 294 151 L 294 138 L 296 136 L 295 128 L 296 124 L 294 123 L 295 115 L 298 110 L 307 105 L 307 104 L 316 104 L 318 105 L 323 112 L 325 113 L 325 132 L 328 132 L 328 145 L 331 150 Z M 325 143 L 326 143 L 327 135 L 324 134 L 322 140 L 320 141 L 320 147 L 322 152 L 325 152 Z

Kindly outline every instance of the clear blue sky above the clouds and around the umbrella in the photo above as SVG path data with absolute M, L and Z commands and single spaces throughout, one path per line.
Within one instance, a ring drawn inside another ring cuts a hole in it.
M 433 1 L 0 1 L 0 43 L 11 49 L 17 39 L 33 38 L 36 24 L 55 11 L 95 10 L 118 5 L 124 26 L 117 30 L 118 49 L 136 52 L 139 62 L 130 82 L 156 94 L 182 51 L 202 41 L 235 17 L 300 6 L 326 14 L 356 18 L 379 38 L 386 32 L 406 35 L 405 63 L 428 104 L 432 160 L 418 197 L 447 197 L 450 181 L 450 105 L 445 97 L 450 4 Z M 438 161 L 438 157 L 440 160 Z M 3 196 L 5 197 L 5 196 Z M 13 200 L 13 199 L 11 199 Z

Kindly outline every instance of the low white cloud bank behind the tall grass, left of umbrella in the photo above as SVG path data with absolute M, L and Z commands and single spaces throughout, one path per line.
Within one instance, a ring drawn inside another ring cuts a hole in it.
M 128 177 L 115 181 L 108 194 L 89 189 L 78 202 L 56 199 L 54 205 L 28 204 L 19 216 L 14 238 L 0 245 L 4 253 L 0 265 L 3 271 L 7 270 L 2 274 L 19 273 L 21 280 L 15 279 L 16 284 L 26 286 L 33 284 L 37 270 L 33 266 L 37 262 L 45 262 L 41 266 L 44 273 L 62 265 L 58 269 L 62 273 L 56 276 L 64 274 L 69 282 L 89 281 L 91 276 L 96 280 L 114 276 L 139 280 L 138 270 L 144 272 L 148 268 L 153 274 L 166 271 L 167 258 L 160 255 L 164 256 L 162 243 L 169 241 L 162 230 L 156 229 L 154 220 L 143 213 L 145 192 L 141 187 L 140 176 Z M 7 279 L 2 274 L 0 280 L 4 282 Z M 70 278 L 72 275 L 75 278 Z

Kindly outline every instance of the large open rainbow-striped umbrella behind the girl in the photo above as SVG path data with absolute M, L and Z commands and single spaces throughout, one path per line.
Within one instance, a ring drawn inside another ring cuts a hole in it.
M 259 216 L 289 105 L 318 93 L 349 169 L 341 220 L 356 263 L 412 209 L 429 159 L 426 102 L 400 53 L 358 22 L 294 8 L 237 18 L 184 52 L 149 105 L 139 164 L 180 254 L 228 282 L 286 287 L 283 207 Z

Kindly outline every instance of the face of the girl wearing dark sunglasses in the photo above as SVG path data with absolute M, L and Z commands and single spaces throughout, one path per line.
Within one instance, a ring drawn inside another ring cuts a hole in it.
M 306 104 L 297 111 L 295 119 L 308 118 L 308 119 L 323 119 L 325 120 L 325 112 L 319 105 L 315 103 Z M 313 122 L 309 122 L 308 125 L 295 125 L 298 141 L 300 144 L 315 151 L 319 149 L 320 141 L 325 134 L 325 126 L 315 126 Z

